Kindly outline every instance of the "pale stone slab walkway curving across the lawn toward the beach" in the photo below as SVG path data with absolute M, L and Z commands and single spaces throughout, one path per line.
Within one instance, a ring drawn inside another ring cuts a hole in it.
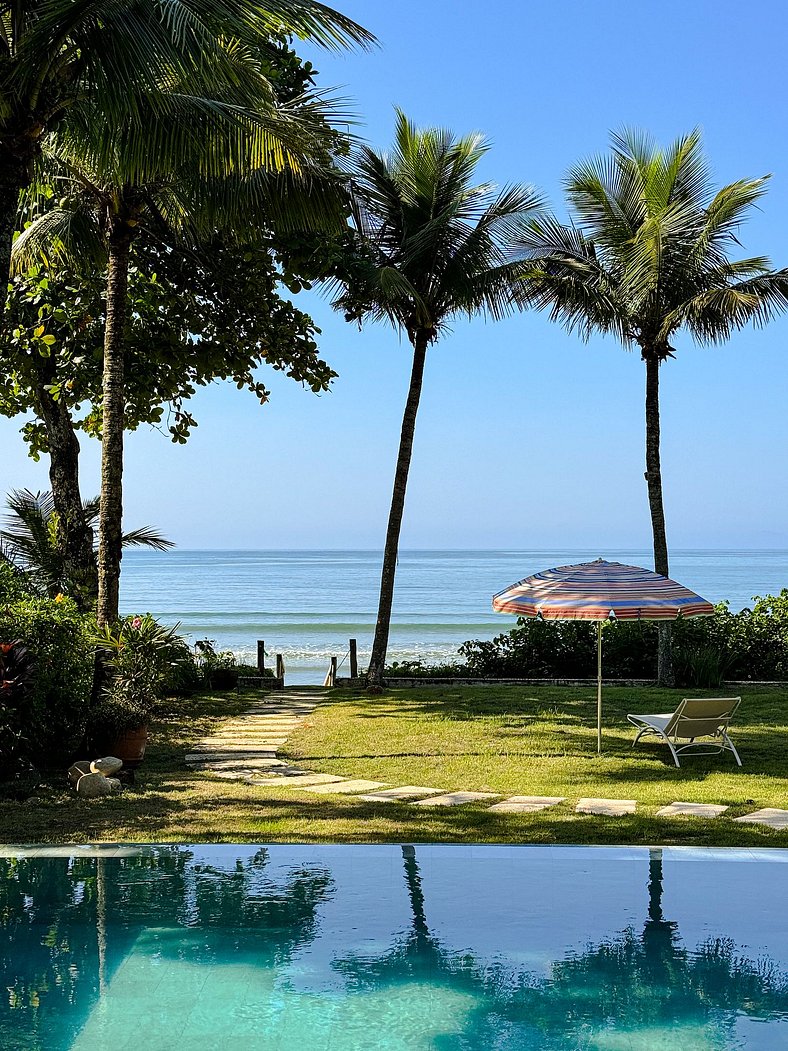
M 240 716 L 233 716 L 195 745 L 186 757 L 191 769 L 217 778 L 250 784 L 294 788 L 315 796 L 353 796 L 370 803 L 405 803 L 409 806 L 462 806 L 500 799 L 499 792 L 447 791 L 423 785 L 389 786 L 382 781 L 343 778 L 334 774 L 302 770 L 279 758 L 288 737 L 320 703 L 323 694 L 288 689 L 255 700 Z M 534 813 L 564 803 L 563 796 L 510 796 L 488 806 L 492 813 Z M 623 817 L 635 813 L 633 799 L 580 799 L 576 813 Z M 658 818 L 719 818 L 727 806 L 717 803 L 670 803 Z M 733 821 L 788 829 L 788 810 L 764 807 Z

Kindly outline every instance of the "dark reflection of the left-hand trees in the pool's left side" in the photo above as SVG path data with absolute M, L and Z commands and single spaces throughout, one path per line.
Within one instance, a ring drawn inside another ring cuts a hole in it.
M 164 955 L 192 931 L 198 941 L 232 931 L 261 964 L 281 963 L 314 936 L 317 908 L 332 892 L 327 869 L 291 866 L 271 878 L 266 850 L 230 868 L 192 859 L 178 846 L 126 858 L 0 859 L 0 969 L 7 976 L 0 1047 L 16 1047 L 19 1032 L 30 1034 L 30 1047 L 54 1046 L 46 1029 L 53 1019 L 64 1039 L 145 928 L 174 934 L 162 939 Z

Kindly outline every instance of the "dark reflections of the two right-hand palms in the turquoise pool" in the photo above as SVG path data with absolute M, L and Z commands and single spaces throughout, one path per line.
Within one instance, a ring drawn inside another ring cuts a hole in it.
M 642 931 L 630 928 L 567 954 L 544 977 L 500 959 L 447 949 L 428 924 L 415 848 L 403 847 L 402 853 L 409 931 L 377 960 L 345 959 L 337 969 L 353 978 L 354 987 L 393 985 L 418 974 L 471 992 L 477 1007 L 466 1027 L 477 1038 L 491 1042 L 499 1031 L 516 1031 L 522 1039 L 527 1031 L 535 1047 L 549 1048 L 553 1039 L 563 1047 L 561 1042 L 580 1029 L 669 1030 L 708 1026 L 711 1017 L 724 1027 L 733 1024 L 737 1013 L 788 1011 L 788 982 L 771 962 L 745 959 L 727 937 L 710 939 L 694 952 L 682 945 L 678 924 L 663 913 L 661 850 L 649 854 L 648 914 Z

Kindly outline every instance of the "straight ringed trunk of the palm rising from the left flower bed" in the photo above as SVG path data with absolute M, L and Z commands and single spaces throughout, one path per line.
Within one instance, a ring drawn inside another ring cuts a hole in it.
M 100 627 L 118 619 L 123 536 L 124 336 L 132 230 L 117 223 L 108 241 L 107 317 L 102 379 L 101 506 L 99 511 Z

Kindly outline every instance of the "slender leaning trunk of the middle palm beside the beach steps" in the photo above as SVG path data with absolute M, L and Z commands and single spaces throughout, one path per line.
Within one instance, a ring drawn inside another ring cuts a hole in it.
M 418 330 L 413 338 L 413 368 L 411 370 L 411 386 L 408 390 L 408 400 L 402 416 L 402 431 L 399 437 L 399 453 L 394 472 L 394 492 L 391 497 L 389 512 L 389 528 L 386 531 L 386 547 L 383 548 L 383 565 L 380 573 L 380 599 L 377 607 L 375 638 L 372 642 L 372 655 L 367 672 L 367 681 L 379 685 L 383 680 L 386 666 L 386 651 L 389 646 L 389 628 L 391 625 L 391 606 L 394 601 L 394 575 L 397 569 L 397 552 L 399 550 L 399 532 L 402 526 L 405 510 L 405 494 L 408 488 L 408 472 L 411 467 L 413 452 L 413 434 L 416 430 L 416 413 L 421 397 L 421 383 L 424 374 L 424 360 L 430 334 Z

